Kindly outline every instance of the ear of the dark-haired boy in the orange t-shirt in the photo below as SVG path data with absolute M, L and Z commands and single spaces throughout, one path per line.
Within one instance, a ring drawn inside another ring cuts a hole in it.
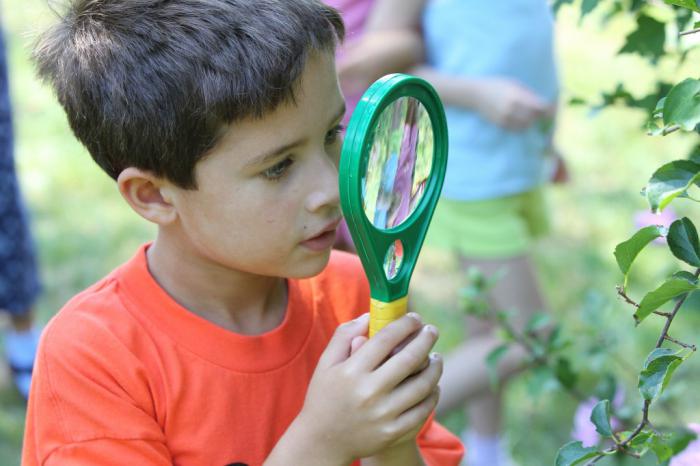
M 170 183 L 151 172 L 129 167 L 117 177 L 119 192 L 137 214 L 158 225 L 177 219 L 177 209 L 169 195 Z

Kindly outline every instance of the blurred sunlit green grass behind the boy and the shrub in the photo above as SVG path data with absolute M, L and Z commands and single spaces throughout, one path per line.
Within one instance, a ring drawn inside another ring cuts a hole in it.
M 51 92 L 34 77 L 29 50 L 37 32 L 53 21 L 47 3 L 0 0 L 9 44 L 16 161 L 45 284 L 37 305 L 42 323 L 73 294 L 128 259 L 154 231 L 122 202 L 111 179 L 73 139 Z M 578 24 L 572 8 L 561 10 L 557 41 L 564 103 L 572 97 L 598 102 L 599 94 L 618 82 L 643 96 L 660 77 L 678 82 L 691 75 L 697 52 L 689 56 L 686 69 L 663 60 L 651 67 L 637 56 L 616 55 L 632 27 L 632 20 L 624 17 L 602 26 L 595 15 Z M 592 117 L 585 106 L 562 105 L 557 141 L 572 180 L 551 189 L 553 231 L 537 251 L 551 307 L 575 337 L 576 369 L 595 373 L 608 368 L 619 373 L 633 408 L 638 404 L 639 368 L 659 335 L 660 323 L 650 319 L 634 327 L 631 310 L 615 297 L 621 277 L 612 251 L 634 231 L 635 213 L 646 208 L 639 191 L 654 169 L 685 157 L 695 143 L 682 135 L 648 137 L 642 130 L 645 118 L 642 112 L 624 108 Z M 679 205 L 679 214 L 687 214 L 683 209 L 689 206 Z M 675 270 L 678 265 L 668 257 L 661 247 L 643 253 L 633 276 L 638 291 L 648 290 Z M 454 325 L 458 311 L 421 304 L 443 329 L 441 349 L 455 345 L 460 338 L 454 330 L 459 328 Z M 691 299 L 684 309 L 672 334 L 697 343 L 700 306 Z M 677 372 L 664 406 L 654 411 L 655 424 L 700 421 L 700 403 L 693 398 L 700 382 L 695 359 Z M 0 380 L 0 464 L 14 465 L 19 464 L 24 404 L 7 376 Z M 515 458 L 526 466 L 552 464 L 557 449 L 569 440 L 576 403 L 555 384 L 539 384 L 531 377 L 516 380 L 507 399 L 508 440 Z M 459 430 L 463 421 L 454 416 L 445 422 Z

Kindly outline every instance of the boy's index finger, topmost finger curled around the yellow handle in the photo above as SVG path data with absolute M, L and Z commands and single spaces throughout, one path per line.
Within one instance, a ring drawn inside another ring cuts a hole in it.
M 402 341 L 408 338 L 422 325 L 420 316 L 409 312 L 370 338 L 355 354 L 359 368 L 373 371 L 391 355 L 391 352 Z

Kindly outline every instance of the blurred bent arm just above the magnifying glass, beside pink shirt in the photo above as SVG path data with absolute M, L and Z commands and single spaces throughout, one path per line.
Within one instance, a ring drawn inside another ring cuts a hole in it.
M 343 89 L 364 91 L 376 79 L 406 71 L 423 60 L 418 19 L 423 0 L 377 0 L 361 38 L 345 45 L 338 62 Z

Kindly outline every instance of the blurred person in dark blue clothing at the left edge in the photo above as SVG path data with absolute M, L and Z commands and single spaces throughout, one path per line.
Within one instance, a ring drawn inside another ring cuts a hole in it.
M 39 331 L 32 325 L 39 278 L 15 172 L 7 74 L 0 31 L 0 310 L 10 315 L 11 322 L 5 334 L 5 358 L 15 386 L 26 398 L 39 340 Z

